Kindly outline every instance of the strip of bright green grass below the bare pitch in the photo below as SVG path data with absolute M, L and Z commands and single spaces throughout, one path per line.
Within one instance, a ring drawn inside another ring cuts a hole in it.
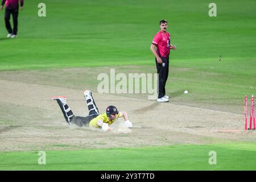
M 2 152 L 0 170 L 256 170 L 255 152 L 255 143 L 46 151 L 45 165 L 38 151 Z

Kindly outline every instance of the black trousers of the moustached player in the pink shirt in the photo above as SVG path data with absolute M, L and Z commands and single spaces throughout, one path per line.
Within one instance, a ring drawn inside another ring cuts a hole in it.
M 156 59 L 156 70 L 158 73 L 158 98 L 162 98 L 166 95 L 166 81 L 169 73 L 169 57 L 160 57 L 162 64 L 159 64 Z

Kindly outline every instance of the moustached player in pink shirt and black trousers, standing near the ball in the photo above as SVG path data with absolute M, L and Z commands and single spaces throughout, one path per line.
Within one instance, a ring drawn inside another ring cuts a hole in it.
M 169 55 L 170 49 L 176 49 L 176 46 L 170 44 L 170 34 L 167 32 L 167 20 L 160 20 L 160 31 L 154 36 L 151 44 L 151 51 L 155 55 L 155 63 L 158 76 L 158 102 L 168 102 L 166 95 L 166 81 L 169 73 Z M 155 50 L 156 47 L 156 50 Z

